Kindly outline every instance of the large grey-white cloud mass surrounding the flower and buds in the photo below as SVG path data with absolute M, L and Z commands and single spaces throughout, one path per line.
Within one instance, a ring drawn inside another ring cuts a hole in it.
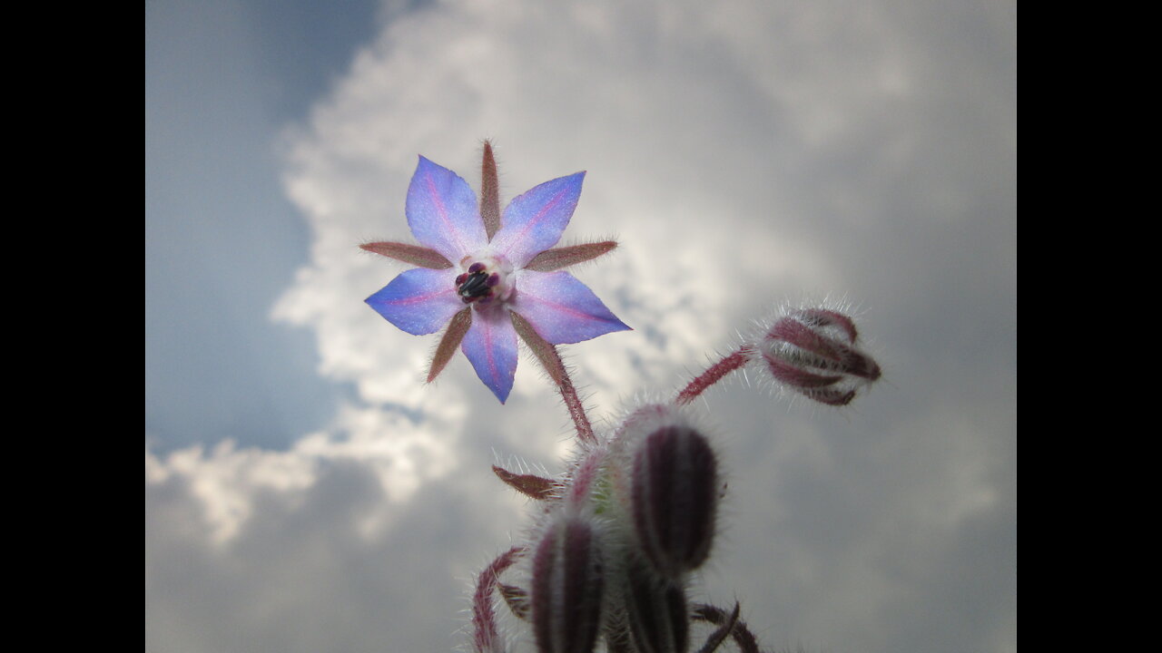
M 853 411 L 788 410 L 741 383 L 709 396 L 733 519 L 705 593 L 737 593 L 783 638 L 767 646 L 1014 647 L 1016 99 L 994 53 L 1014 36 L 1009 5 L 938 5 L 464 1 L 386 26 L 285 143 L 314 243 L 273 315 L 309 328 L 320 372 L 356 396 L 286 452 L 146 451 L 148 644 L 310 651 L 310 624 L 342 633 L 332 651 L 450 645 L 464 603 L 449 579 L 519 529 L 492 451 L 554 468 L 567 421 L 524 357 L 505 407 L 462 357 L 424 386 L 435 337 L 363 304 L 402 267 L 356 245 L 408 237 L 416 155 L 475 186 L 493 137 L 503 199 L 588 168 L 566 238 L 622 242 L 578 272 L 636 329 L 567 349 L 596 416 L 677 387 L 774 302 L 871 307 L 897 385 Z M 980 220 L 985 204 L 999 213 Z M 975 346 L 981 332 L 1000 339 Z M 187 512 L 203 540 L 174 534 Z M 222 616 L 199 591 L 266 612 Z M 230 634 L 200 641 L 182 619 Z

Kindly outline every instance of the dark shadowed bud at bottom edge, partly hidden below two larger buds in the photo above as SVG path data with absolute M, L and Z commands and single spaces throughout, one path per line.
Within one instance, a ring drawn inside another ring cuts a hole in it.
M 639 653 L 686 653 L 690 613 L 682 586 L 660 579 L 643 561 L 625 572 L 625 618 Z

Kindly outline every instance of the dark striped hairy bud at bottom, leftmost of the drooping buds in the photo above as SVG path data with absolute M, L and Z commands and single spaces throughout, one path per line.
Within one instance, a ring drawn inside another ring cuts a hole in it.
M 604 561 L 594 526 L 557 517 L 532 559 L 532 629 L 539 653 L 590 653 L 601 629 Z

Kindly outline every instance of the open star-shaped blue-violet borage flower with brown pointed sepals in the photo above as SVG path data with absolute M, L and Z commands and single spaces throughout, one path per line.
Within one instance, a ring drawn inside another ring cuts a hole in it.
M 483 158 L 478 208 L 464 179 L 419 157 L 404 213 L 411 235 L 423 246 L 382 242 L 363 249 L 422 267 L 400 274 L 367 297 L 367 303 L 415 336 L 435 333 L 447 324 L 428 381 L 436 379 L 460 345 L 480 380 L 504 403 L 516 374 L 518 330 L 526 340 L 558 345 L 629 326 L 584 284 L 560 272 L 617 243 L 551 249 L 573 217 L 584 173 L 532 188 L 514 199 L 502 216 L 496 165 L 487 143 Z M 525 324 L 535 333 L 523 329 Z M 536 342 L 530 346 L 537 351 Z

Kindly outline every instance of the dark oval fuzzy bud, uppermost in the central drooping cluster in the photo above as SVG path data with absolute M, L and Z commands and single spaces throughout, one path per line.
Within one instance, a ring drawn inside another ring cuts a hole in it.
M 658 428 L 633 454 L 631 502 L 641 553 L 677 581 L 710 554 L 718 472 L 706 438 L 684 423 Z

